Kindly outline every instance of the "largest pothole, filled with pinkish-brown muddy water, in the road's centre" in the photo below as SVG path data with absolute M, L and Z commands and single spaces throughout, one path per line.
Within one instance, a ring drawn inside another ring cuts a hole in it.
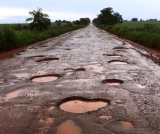
M 60 104 L 60 109 L 70 113 L 87 113 L 104 108 L 108 105 L 106 100 L 101 99 L 69 99 Z

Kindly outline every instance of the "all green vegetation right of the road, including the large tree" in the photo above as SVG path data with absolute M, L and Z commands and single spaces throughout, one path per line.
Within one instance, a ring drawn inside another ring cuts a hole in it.
M 150 19 L 149 21 L 138 21 L 138 18 L 132 18 L 132 21 L 124 21 L 117 13 L 117 21 L 114 21 L 115 13 L 112 8 L 105 8 L 98 15 L 98 18 L 93 20 L 94 25 L 116 34 L 120 37 L 132 40 L 150 48 L 160 50 L 160 22 L 157 19 Z

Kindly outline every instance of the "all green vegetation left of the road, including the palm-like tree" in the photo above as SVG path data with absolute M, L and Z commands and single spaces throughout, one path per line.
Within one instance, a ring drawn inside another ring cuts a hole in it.
M 37 9 L 37 11 L 33 10 L 29 12 L 29 14 L 33 16 L 33 18 L 27 19 L 27 21 L 31 22 L 30 24 L 0 25 L 0 52 L 24 47 L 38 41 L 59 36 L 66 32 L 83 28 L 89 24 L 74 24 L 69 21 L 64 21 L 65 23 L 63 25 L 51 23 L 48 18 L 49 16 L 42 13 L 41 8 Z

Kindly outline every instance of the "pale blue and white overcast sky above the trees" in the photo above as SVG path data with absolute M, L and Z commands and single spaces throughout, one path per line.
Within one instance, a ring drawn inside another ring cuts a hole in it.
M 112 7 L 124 20 L 160 20 L 160 0 L 0 0 L 0 23 L 25 23 L 28 12 L 42 8 L 52 21 L 77 20 L 89 17 L 91 20 L 100 10 Z

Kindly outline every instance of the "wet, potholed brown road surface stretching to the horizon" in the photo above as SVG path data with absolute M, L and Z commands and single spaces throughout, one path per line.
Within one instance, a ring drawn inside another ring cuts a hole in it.
M 90 25 L 0 60 L 0 134 L 159 134 L 147 54 Z

